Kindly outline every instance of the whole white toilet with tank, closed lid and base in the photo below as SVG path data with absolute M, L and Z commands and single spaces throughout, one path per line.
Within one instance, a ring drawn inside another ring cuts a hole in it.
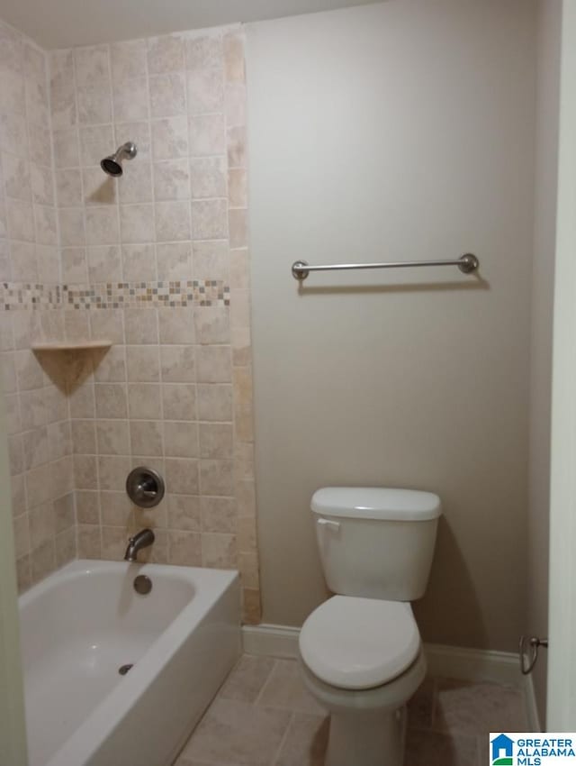
M 306 687 L 330 714 L 326 766 L 402 766 L 406 703 L 426 674 L 410 601 L 426 590 L 440 498 L 329 487 L 311 510 L 335 595 L 307 618 L 299 644 Z

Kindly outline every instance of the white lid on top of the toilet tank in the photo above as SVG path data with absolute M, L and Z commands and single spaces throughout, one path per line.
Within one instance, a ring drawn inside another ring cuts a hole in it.
M 440 498 L 417 489 L 324 487 L 312 495 L 315 514 L 383 521 L 428 521 L 442 513 Z

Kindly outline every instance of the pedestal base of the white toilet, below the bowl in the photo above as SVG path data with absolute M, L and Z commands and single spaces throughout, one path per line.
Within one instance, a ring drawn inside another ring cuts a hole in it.
M 333 712 L 325 766 L 402 766 L 406 718 L 406 706 L 386 712 Z

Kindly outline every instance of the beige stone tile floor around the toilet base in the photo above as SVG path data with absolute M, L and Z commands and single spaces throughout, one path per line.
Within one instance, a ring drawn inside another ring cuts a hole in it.
M 486 766 L 496 730 L 527 730 L 518 689 L 427 679 L 410 701 L 405 766 Z M 297 661 L 244 654 L 175 766 L 322 766 L 328 731 Z

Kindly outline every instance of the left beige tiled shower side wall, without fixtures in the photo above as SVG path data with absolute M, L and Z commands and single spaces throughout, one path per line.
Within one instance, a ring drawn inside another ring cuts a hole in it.
M 11 307 L 0 317 L 2 372 L 18 579 L 27 588 L 76 554 L 74 476 L 65 392 L 31 351 L 62 318 L 48 62 L 2 23 L 0 152 L 0 310 Z

